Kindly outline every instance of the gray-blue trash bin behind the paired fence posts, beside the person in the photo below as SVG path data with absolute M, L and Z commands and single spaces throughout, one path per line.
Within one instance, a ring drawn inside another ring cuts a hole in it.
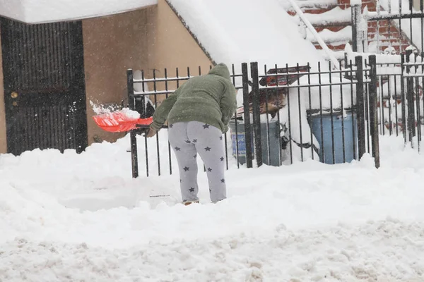
M 238 143 L 238 161 L 239 164 L 246 163 L 246 133 L 245 123 L 237 121 L 237 138 L 235 130 L 235 121 L 230 121 L 230 133 L 232 141 L 232 156 L 237 158 Z M 253 125 L 251 125 L 253 130 Z M 262 161 L 269 166 L 280 166 L 280 127 L 278 122 L 269 122 L 269 152 L 268 152 L 268 134 L 266 123 L 261 123 L 261 145 L 262 145 Z M 252 131 L 252 148 L 254 148 L 254 135 Z M 254 157 L 254 156 L 253 156 Z

